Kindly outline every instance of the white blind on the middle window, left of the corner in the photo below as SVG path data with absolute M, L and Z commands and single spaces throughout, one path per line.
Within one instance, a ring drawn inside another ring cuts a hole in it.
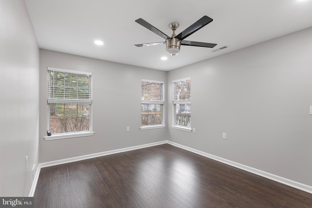
M 164 103 L 164 82 L 154 80 L 141 80 L 141 103 Z

